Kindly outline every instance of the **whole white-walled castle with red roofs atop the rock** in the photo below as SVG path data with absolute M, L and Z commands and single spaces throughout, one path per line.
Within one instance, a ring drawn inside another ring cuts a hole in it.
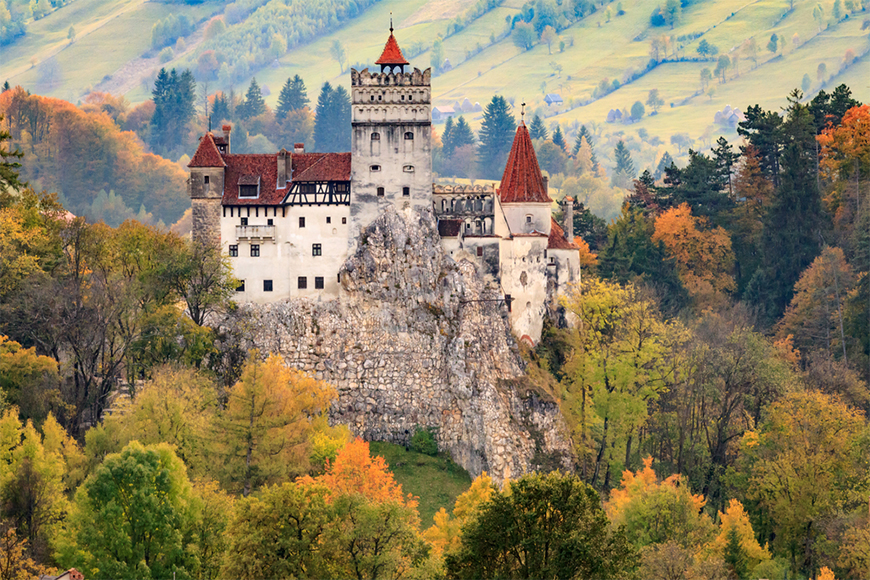
M 240 280 L 237 299 L 333 299 L 362 228 L 388 207 L 432 212 L 442 246 L 499 288 L 514 333 L 534 344 L 547 307 L 580 275 L 573 212 L 565 228 L 524 122 L 500 187 L 432 183 L 431 73 L 409 66 L 393 35 L 380 72 L 351 69 L 352 151 L 234 154 L 231 127 L 206 133 L 188 167 L 193 238 L 220 244 Z M 279 215 L 280 214 L 280 215 Z

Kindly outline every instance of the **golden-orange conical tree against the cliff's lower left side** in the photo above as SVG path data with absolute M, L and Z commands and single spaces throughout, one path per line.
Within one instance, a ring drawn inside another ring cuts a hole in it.
M 223 481 L 244 496 L 265 483 L 308 467 L 308 436 L 328 429 L 325 412 L 335 391 L 277 355 L 251 352 L 242 376 L 227 394 L 216 425 Z

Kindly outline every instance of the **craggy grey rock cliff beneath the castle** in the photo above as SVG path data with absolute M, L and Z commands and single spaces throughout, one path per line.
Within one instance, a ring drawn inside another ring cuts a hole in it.
M 431 428 L 473 476 L 571 469 L 556 404 L 524 379 L 506 306 L 454 262 L 429 211 L 388 210 L 341 272 L 339 300 L 245 305 L 251 346 L 334 384 L 331 410 L 368 440 Z

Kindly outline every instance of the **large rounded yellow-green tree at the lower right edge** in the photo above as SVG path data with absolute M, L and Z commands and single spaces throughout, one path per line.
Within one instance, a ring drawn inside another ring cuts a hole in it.
M 765 510 L 774 547 L 792 568 L 818 571 L 832 533 L 821 523 L 863 508 L 864 416 L 836 397 L 794 391 L 774 403 L 757 431 L 743 436 L 744 493 Z

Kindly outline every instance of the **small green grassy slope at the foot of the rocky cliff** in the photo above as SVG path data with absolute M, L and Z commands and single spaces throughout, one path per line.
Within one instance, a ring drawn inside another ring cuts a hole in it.
M 371 452 L 386 459 L 405 493 L 420 498 L 420 525 L 423 529 L 432 525 L 432 516 L 442 507 L 452 511 L 456 497 L 471 485 L 468 473 L 443 456 L 429 457 L 405 451 L 399 445 L 378 442 L 371 444 Z

